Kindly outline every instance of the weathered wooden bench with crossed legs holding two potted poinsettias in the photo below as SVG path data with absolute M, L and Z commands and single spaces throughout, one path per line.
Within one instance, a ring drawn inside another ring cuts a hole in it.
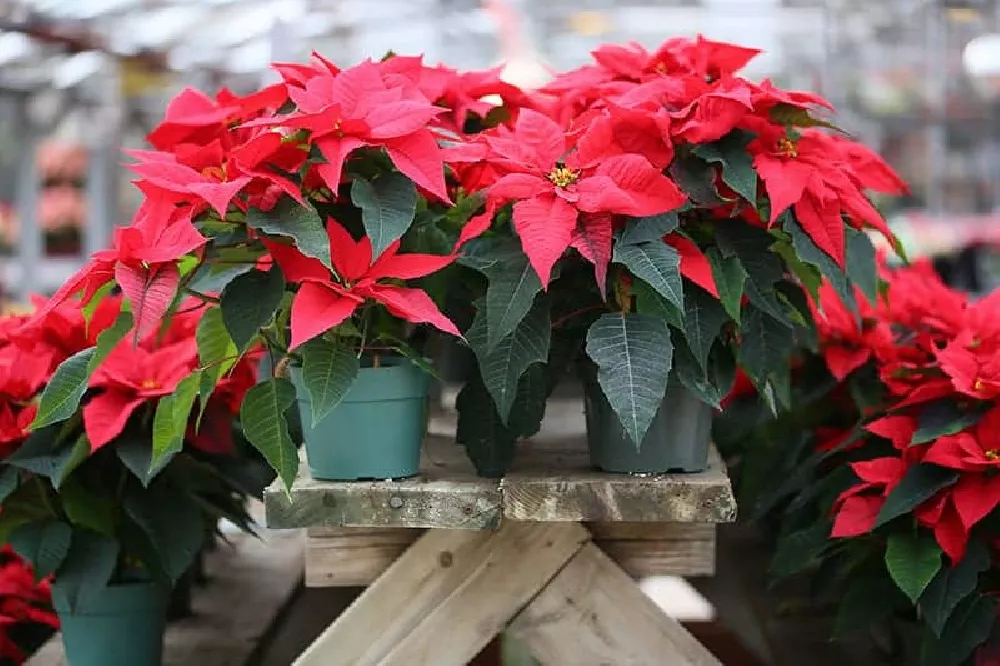
M 326 482 L 303 465 L 265 494 L 306 528 L 306 582 L 369 585 L 295 666 L 461 666 L 500 632 L 551 666 L 719 661 L 633 577 L 714 570 L 735 519 L 725 467 L 652 478 L 590 469 L 578 403 L 552 405 L 511 472 L 478 478 L 436 417 L 414 479 Z

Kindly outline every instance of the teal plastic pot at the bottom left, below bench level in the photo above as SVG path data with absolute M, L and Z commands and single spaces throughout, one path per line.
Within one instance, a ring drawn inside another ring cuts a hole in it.
M 53 595 L 69 666 L 160 666 L 169 596 L 155 583 L 109 585 L 70 610 Z

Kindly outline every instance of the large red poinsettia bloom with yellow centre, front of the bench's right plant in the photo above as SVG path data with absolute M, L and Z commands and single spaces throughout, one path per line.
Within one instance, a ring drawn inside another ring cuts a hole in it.
M 510 136 L 487 141 L 497 164 L 508 171 L 489 189 L 489 199 L 495 205 L 515 202 L 514 228 L 543 285 L 578 229 L 587 243 L 600 248 L 584 256 L 610 256 L 610 218 L 591 218 L 581 227 L 580 213 L 655 215 L 685 200 L 673 181 L 641 155 L 602 159 L 603 154 L 588 151 L 587 143 L 569 152 L 559 126 L 535 111 L 522 111 Z M 606 261 L 599 264 L 604 270 Z

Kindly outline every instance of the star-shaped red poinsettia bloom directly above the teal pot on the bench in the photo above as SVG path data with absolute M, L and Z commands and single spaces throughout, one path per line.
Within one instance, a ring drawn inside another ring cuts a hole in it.
M 452 263 L 453 256 L 398 254 L 399 241 L 396 241 L 372 263 L 371 241 L 367 236 L 356 241 L 332 219 L 327 221 L 326 228 L 335 275 L 318 260 L 306 257 L 291 246 L 268 244 L 286 279 L 300 283 L 292 301 L 293 349 L 342 323 L 368 299 L 407 321 L 428 323 L 446 333 L 461 336 L 426 292 L 382 282 L 429 275 Z

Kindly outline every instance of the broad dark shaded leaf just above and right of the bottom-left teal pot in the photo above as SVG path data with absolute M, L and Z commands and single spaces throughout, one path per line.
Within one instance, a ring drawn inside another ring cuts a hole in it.
M 125 513 L 146 534 L 163 572 L 176 583 L 205 544 L 206 525 L 199 506 L 171 491 L 133 492 Z

